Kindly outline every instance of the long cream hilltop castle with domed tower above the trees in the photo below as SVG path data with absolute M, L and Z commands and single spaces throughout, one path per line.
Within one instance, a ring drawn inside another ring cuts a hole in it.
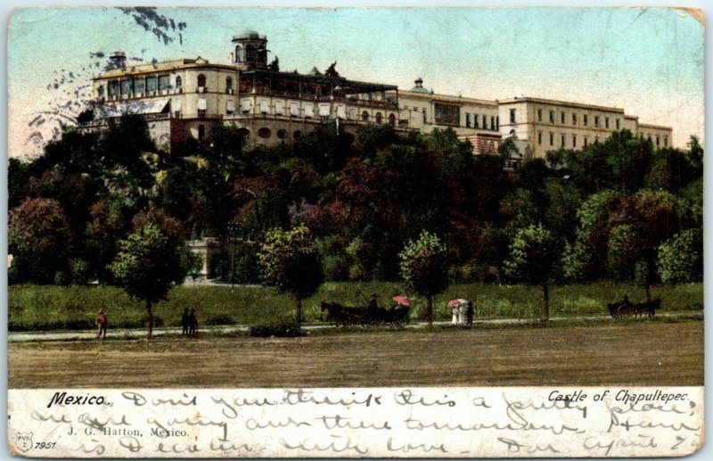
M 422 78 L 408 91 L 341 77 L 335 64 L 324 73 L 283 72 L 268 64 L 267 38 L 254 30 L 233 37 L 231 62 L 201 58 L 127 64 L 111 55 L 111 69 L 93 78 L 94 119 L 101 129 L 124 113 L 146 119 L 152 138 L 168 149 L 188 137 L 203 140 L 215 124 L 242 130 L 250 144 L 293 142 L 316 126 L 336 124 L 356 132 L 366 124 L 430 133 L 452 128 L 475 154 L 494 154 L 508 136 L 525 159 L 581 149 L 627 128 L 668 147 L 672 130 L 646 125 L 622 109 L 537 98 L 490 101 L 439 95 Z

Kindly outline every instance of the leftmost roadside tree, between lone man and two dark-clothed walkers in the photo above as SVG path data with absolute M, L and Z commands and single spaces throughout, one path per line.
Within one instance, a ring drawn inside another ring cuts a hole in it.
M 147 224 L 119 242 L 119 253 L 111 272 L 119 286 L 132 297 L 146 302 L 149 338 L 153 332 L 152 304 L 165 300 L 170 289 L 184 281 L 182 245 Z

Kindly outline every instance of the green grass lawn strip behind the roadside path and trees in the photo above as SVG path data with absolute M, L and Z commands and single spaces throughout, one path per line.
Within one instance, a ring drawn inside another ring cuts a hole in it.
M 412 318 L 422 318 L 424 297 L 404 292 L 401 284 L 328 283 L 315 296 L 304 301 L 307 322 L 321 319 L 320 301 L 338 301 L 347 305 L 365 305 L 372 292 L 381 305 L 389 305 L 391 296 L 407 294 L 414 301 Z M 554 287 L 550 315 L 556 317 L 605 316 L 606 303 L 620 300 L 628 293 L 633 301 L 644 299 L 643 289 L 626 284 L 576 284 Z M 703 309 L 703 285 L 684 284 L 652 288 L 660 297 L 663 311 Z M 436 319 L 446 320 L 446 303 L 454 298 L 475 301 L 476 317 L 537 318 L 542 312 L 542 292 L 525 285 L 457 284 L 436 297 Z M 8 291 L 10 331 L 83 330 L 94 327 L 100 308 L 108 311 L 111 328 L 144 325 L 143 303 L 131 300 L 119 288 L 110 286 L 40 286 L 12 285 Z M 200 325 L 258 325 L 276 323 L 294 317 L 294 300 L 269 287 L 190 286 L 173 289 L 168 300 L 154 306 L 157 325 L 180 325 L 184 308 L 195 307 Z

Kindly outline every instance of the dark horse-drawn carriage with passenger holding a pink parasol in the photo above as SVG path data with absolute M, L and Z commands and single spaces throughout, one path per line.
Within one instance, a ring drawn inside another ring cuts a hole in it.
M 338 302 L 322 301 L 322 312 L 327 313 L 327 320 L 336 326 L 393 325 L 402 327 L 411 322 L 411 308 L 397 305 L 392 309 L 379 307 L 355 308 L 343 306 Z

